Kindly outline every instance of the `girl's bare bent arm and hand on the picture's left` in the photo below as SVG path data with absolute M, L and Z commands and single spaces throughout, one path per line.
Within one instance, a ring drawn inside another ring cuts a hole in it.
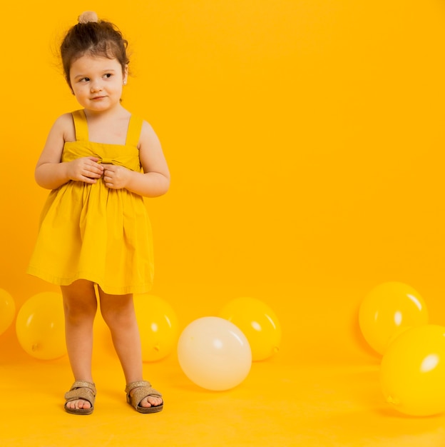
M 67 141 L 68 135 L 71 136 L 71 140 L 75 139 L 72 116 L 64 114 L 53 124 L 44 150 L 37 161 L 34 176 L 42 188 L 56 189 L 70 180 L 93 184 L 103 174 L 103 166 L 96 163 L 98 159 L 95 157 L 83 157 L 62 163 L 63 144 Z

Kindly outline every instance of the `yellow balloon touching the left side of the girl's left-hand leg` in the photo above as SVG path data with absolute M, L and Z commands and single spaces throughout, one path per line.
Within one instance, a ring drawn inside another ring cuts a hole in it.
M 66 354 L 65 318 L 61 293 L 31 296 L 17 313 L 16 334 L 26 353 L 42 360 Z

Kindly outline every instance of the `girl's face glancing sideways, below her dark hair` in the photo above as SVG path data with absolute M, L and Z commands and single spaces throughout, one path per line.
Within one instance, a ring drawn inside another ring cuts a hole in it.
M 71 64 L 73 94 L 81 106 L 92 112 L 119 106 L 128 69 L 122 72 L 117 59 L 84 55 Z

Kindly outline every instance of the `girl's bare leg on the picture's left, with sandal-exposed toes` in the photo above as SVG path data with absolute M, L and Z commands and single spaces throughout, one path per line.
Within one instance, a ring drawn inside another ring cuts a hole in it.
M 61 286 L 65 312 L 66 349 L 75 381 L 93 382 L 93 322 L 97 311 L 94 284 L 79 279 Z M 91 408 L 88 401 L 79 399 L 66 404 L 68 408 Z

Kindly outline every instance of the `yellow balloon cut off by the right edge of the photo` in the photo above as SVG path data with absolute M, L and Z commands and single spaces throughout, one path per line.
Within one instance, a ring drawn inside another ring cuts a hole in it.
M 445 411 L 445 327 L 408 329 L 382 358 L 380 382 L 385 400 L 410 416 Z

